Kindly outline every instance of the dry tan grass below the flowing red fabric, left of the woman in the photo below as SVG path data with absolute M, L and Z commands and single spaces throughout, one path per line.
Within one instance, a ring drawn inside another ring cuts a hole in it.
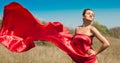
M 71 63 L 63 51 L 53 46 L 37 46 L 24 53 L 13 53 L 0 46 L 0 63 Z

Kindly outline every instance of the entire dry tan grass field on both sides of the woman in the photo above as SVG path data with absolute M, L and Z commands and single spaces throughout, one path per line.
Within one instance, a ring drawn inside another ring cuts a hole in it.
M 98 55 L 99 63 L 120 63 L 120 39 L 107 38 L 111 46 Z M 94 40 L 98 49 L 100 43 Z M 24 53 L 13 53 L 0 45 L 0 63 L 72 63 L 71 58 L 55 46 L 37 46 Z

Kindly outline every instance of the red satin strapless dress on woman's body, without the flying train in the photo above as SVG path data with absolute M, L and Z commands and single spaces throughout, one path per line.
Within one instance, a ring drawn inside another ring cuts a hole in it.
M 96 56 L 89 55 L 88 50 L 92 49 L 92 37 L 85 34 L 76 34 L 73 40 L 74 50 L 79 55 L 69 54 L 76 63 L 95 63 Z

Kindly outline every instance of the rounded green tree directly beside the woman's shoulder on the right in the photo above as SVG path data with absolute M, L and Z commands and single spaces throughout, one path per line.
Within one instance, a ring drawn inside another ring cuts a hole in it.
M 100 24 L 98 21 L 93 22 L 92 25 L 96 27 L 102 34 L 109 35 L 109 30 L 105 25 Z

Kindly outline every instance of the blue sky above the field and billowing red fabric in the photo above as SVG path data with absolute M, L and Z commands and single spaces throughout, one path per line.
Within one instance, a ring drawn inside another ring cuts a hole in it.
M 119 0 L 0 0 L 1 19 L 4 6 L 11 2 L 18 2 L 40 20 L 59 21 L 71 28 L 82 24 L 85 8 L 94 10 L 94 21 L 108 28 L 120 26 Z

